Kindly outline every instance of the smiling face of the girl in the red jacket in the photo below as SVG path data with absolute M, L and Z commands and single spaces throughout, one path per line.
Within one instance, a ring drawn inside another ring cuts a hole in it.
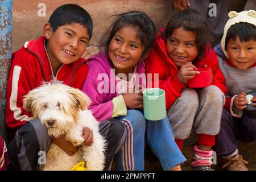
M 180 68 L 182 65 L 193 61 L 198 50 L 196 47 L 196 35 L 183 27 L 174 29 L 172 35 L 166 40 L 168 55 Z

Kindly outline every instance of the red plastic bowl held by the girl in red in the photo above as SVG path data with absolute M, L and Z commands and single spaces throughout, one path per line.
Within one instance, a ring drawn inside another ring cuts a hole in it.
M 197 71 L 199 71 L 200 74 L 188 80 L 188 86 L 191 88 L 204 88 L 204 87 L 210 86 L 210 83 L 212 82 L 211 69 L 197 68 Z

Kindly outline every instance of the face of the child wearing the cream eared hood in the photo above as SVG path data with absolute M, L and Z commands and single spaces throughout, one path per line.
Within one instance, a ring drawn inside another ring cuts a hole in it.
M 230 62 L 237 69 L 250 68 L 256 62 L 256 41 L 241 42 L 240 38 L 230 39 L 226 47 Z

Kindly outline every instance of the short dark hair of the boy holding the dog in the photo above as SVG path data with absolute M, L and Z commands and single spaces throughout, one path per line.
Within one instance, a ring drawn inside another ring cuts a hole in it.
M 57 7 L 50 16 L 48 23 L 51 24 L 53 32 L 57 30 L 57 27 L 63 26 L 64 24 L 80 23 L 87 28 L 89 39 L 92 37 L 92 17 L 79 5 L 66 4 Z

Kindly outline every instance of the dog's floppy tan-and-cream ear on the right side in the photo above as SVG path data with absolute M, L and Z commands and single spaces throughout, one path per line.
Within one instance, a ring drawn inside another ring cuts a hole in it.
M 74 98 L 72 101 L 75 102 L 75 106 L 81 110 L 85 110 L 90 105 L 90 98 L 79 89 L 70 89 L 69 94 Z

